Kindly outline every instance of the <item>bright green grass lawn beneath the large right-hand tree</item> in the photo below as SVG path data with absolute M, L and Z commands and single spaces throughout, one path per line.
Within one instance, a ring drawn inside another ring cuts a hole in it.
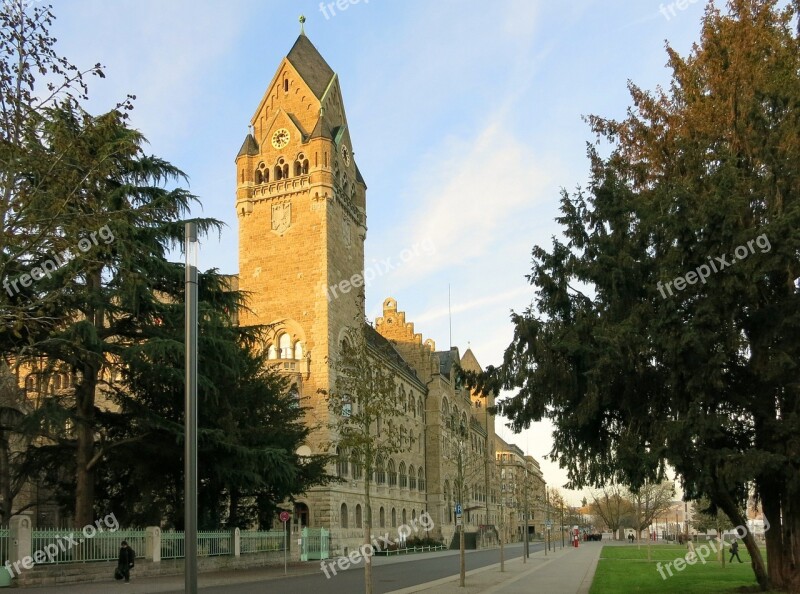
M 698 542 L 695 546 L 703 544 Z M 677 571 L 672 566 L 672 577 L 664 568 L 666 563 L 685 558 L 685 546 L 652 545 L 651 561 L 647 560 L 647 546 L 606 546 L 600 553 L 600 561 L 594 575 L 590 594 L 619 594 L 622 592 L 680 592 L 681 594 L 737 592 L 739 589 L 757 586 L 750 556 L 744 546 L 739 547 L 739 556 L 744 563 L 734 560 L 727 563 L 730 553 L 725 550 L 725 567 L 717 561 L 715 553 L 703 565 L 699 560 L 694 565 L 685 565 Z M 765 554 L 762 551 L 762 554 Z M 656 563 L 660 562 L 666 579 L 661 577 Z

